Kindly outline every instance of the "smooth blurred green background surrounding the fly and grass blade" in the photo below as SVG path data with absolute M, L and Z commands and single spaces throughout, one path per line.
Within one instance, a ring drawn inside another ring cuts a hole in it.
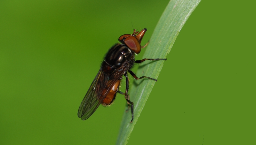
M 0 144 L 115 144 L 124 96 L 86 121 L 78 107 L 108 48 L 132 25 L 144 45 L 168 2 L 1 0 Z M 254 6 L 201 1 L 128 144 L 255 143 Z

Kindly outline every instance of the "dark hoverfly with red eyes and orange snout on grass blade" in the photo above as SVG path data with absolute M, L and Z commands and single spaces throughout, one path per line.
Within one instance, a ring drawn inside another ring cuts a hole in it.
M 127 72 L 129 72 L 136 80 L 148 78 L 157 81 L 156 79 L 146 76 L 138 78 L 130 69 L 134 63 L 142 63 L 145 60 L 166 60 L 162 58 L 144 58 L 142 60 L 135 60 L 134 54 L 140 53 L 141 48 L 144 48 L 148 44 L 147 43 L 144 46 L 140 45 L 146 31 L 147 29 L 144 28 L 139 33 L 139 31 L 136 32 L 136 29 L 134 29 L 132 34 L 124 34 L 118 39 L 121 44 L 116 43 L 108 50 L 104 61 L 100 66 L 100 71 L 92 81 L 89 90 L 80 104 L 78 109 L 79 118 L 82 120 L 88 119 L 100 104 L 103 106 L 111 105 L 116 98 L 116 93 L 118 92 L 124 95 L 124 98 L 128 103 L 128 107 L 131 106 L 133 120 L 133 103 L 130 101 L 128 95 L 129 79 Z M 123 79 L 123 75 L 126 80 L 125 93 L 119 91 L 119 85 L 120 81 Z

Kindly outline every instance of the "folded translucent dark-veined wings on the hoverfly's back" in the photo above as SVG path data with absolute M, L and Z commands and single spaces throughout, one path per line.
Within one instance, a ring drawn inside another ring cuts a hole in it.
M 111 75 L 102 71 L 98 72 L 80 104 L 77 113 L 79 118 L 86 120 L 96 111 L 116 81 L 122 76 L 123 72 L 123 69 L 117 69 Z

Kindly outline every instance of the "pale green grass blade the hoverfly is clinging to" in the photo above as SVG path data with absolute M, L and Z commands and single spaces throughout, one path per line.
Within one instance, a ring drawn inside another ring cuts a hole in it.
M 195 10 L 201 0 L 171 0 L 162 14 L 156 29 L 147 46 L 143 58 L 165 58 L 170 52 L 181 28 L 188 17 Z M 167 60 L 168 61 L 168 60 Z M 148 76 L 157 79 L 164 61 L 144 62 L 140 65 L 136 75 Z M 154 80 L 137 80 L 131 85 L 129 95 L 134 103 L 134 119 L 130 123 L 131 113 L 124 112 L 117 145 L 127 144 L 140 113 L 148 99 L 148 96 L 155 84 Z

